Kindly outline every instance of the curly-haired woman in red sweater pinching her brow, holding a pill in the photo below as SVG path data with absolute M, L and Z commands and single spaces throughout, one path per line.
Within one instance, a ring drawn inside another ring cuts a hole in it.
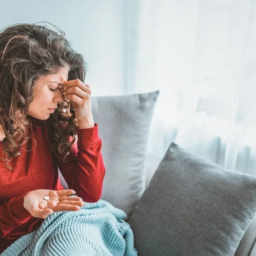
M 102 141 L 85 74 L 62 31 L 18 24 L 0 32 L 0 252 L 49 214 L 100 199 Z

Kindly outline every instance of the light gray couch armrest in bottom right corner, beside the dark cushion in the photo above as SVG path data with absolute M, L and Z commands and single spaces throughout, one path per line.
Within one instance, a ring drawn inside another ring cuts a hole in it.
M 234 256 L 256 256 L 256 215 L 240 241 Z

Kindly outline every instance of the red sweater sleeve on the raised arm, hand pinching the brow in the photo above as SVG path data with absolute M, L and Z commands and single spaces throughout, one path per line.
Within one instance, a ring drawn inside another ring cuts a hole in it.
M 98 125 L 78 129 L 78 142 L 73 144 L 67 162 L 58 157 L 58 167 L 68 187 L 85 202 L 97 202 L 102 194 L 105 166 L 101 154 L 102 140 Z

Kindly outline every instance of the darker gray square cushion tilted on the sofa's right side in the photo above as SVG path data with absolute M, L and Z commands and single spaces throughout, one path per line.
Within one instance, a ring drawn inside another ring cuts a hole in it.
M 140 256 L 227 256 L 255 212 L 255 176 L 172 143 L 128 222 Z

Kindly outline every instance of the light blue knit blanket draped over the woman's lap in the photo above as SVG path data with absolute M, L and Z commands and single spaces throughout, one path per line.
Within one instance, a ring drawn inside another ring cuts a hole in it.
M 126 213 L 100 199 L 76 212 L 50 214 L 34 232 L 23 235 L 1 256 L 134 256 Z

